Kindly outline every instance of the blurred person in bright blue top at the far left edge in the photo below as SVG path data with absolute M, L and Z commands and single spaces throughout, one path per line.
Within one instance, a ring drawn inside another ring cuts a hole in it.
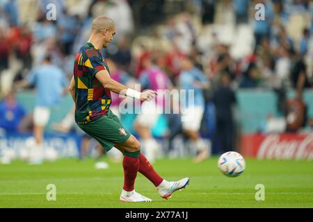
M 0 103 L 0 129 L 6 133 L 18 133 L 19 124 L 26 115 L 26 110 L 15 100 L 14 92 L 9 92 Z

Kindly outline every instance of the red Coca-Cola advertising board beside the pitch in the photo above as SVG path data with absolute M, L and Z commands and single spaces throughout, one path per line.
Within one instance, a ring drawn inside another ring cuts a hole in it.
M 273 160 L 312 160 L 313 133 L 243 135 L 241 154 L 244 157 Z

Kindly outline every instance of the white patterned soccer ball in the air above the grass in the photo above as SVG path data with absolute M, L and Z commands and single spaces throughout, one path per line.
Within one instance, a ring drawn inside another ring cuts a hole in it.
M 218 169 L 230 178 L 239 176 L 246 169 L 246 162 L 240 153 L 230 151 L 220 155 Z

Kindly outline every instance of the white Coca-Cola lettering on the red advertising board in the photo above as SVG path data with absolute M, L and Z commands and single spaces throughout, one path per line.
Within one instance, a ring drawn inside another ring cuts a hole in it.
M 282 135 L 268 135 L 259 150 L 258 159 L 313 159 L 313 134 L 303 136 L 282 137 Z

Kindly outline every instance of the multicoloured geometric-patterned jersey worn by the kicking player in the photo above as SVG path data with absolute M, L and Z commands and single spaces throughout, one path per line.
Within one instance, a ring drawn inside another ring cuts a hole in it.
M 104 116 L 110 108 L 111 92 L 95 77 L 101 70 L 109 72 L 109 67 L 99 49 L 87 42 L 79 49 L 74 62 L 77 123 L 95 121 Z

